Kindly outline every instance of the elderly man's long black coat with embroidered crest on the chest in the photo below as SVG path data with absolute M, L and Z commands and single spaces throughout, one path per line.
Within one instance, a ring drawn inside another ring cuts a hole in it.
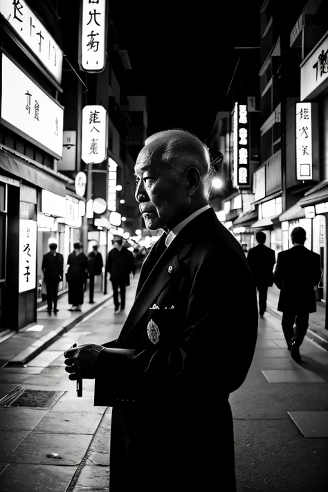
M 110 491 L 199 492 L 219 482 L 232 492 L 228 397 L 255 351 L 253 278 L 212 209 L 183 228 L 148 275 L 155 251 L 120 336 L 104 344 L 135 349 L 136 358 L 103 351 L 97 360 L 95 405 L 113 406 Z

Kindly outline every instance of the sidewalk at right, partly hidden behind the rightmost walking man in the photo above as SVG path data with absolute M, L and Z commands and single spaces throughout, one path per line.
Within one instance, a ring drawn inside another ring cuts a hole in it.
M 271 314 L 273 314 L 273 316 L 276 316 L 281 320 L 282 313 L 277 311 L 279 294 L 280 290 L 275 285 L 268 288 L 267 309 Z M 325 318 L 325 302 L 317 302 L 316 313 L 311 313 L 309 316 L 309 329 L 307 331 L 307 337 L 316 341 L 316 343 L 328 350 L 328 330 L 325 328 Z

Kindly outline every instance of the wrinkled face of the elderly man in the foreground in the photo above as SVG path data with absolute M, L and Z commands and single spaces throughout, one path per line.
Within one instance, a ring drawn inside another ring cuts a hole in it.
M 136 201 L 149 230 L 172 229 L 181 221 L 190 203 L 188 181 L 172 176 L 172 167 L 161 161 L 161 156 L 143 149 L 134 168 L 136 174 Z

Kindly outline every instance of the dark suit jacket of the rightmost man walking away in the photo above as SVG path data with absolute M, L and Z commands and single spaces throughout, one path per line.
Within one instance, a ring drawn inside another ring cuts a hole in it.
M 321 277 L 320 256 L 305 246 L 281 251 L 277 257 L 274 282 L 281 289 L 278 311 L 314 313 L 316 293 L 313 289 Z

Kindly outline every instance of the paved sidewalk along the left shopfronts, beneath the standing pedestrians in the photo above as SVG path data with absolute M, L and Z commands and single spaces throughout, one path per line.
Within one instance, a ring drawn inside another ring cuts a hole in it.
M 58 299 L 59 312 L 49 316 L 46 306 L 37 310 L 37 322 L 19 332 L 0 338 L 0 367 L 6 365 L 22 366 L 49 347 L 57 336 L 64 334 L 78 322 L 89 316 L 112 297 L 111 289 L 106 295 L 98 291 L 94 294 L 94 304 L 89 304 L 89 291 L 84 293 L 81 311 L 69 311 L 68 294 Z M 0 394 L 1 398 L 1 394 Z

